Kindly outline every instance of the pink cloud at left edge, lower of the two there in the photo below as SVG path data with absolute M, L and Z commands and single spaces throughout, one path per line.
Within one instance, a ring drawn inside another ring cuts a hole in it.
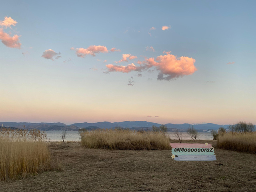
M 3 29 L 0 28 L 0 40 L 7 47 L 20 49 L 20 40 L 18 35 L 14 35 L 11 37 L 8 33 L 5 33 Z

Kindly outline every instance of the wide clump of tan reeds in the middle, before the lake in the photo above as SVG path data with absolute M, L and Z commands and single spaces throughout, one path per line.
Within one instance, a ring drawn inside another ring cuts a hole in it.
M 95 130 L 83 132 L 82 146 L 110 150 L 168 150 L 169 138 L 161 132 Z

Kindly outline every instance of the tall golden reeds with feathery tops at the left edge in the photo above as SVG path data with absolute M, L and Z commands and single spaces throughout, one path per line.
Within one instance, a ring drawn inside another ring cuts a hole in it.
M 0 180 L 51 170 L 50 150 L 42 140 L 38 130 L 0 130 Z

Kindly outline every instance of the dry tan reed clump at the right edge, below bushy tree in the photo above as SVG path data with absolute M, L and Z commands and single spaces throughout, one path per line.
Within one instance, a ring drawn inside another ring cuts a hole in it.
M 229 132 L 218 136 L 217 147 L 256 154 L 256 132 Z

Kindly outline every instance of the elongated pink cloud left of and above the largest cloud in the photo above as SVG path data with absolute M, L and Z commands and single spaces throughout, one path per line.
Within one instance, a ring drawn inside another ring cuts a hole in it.
M 95 54 L 100 52 L 101 53 L 108 52 L 108 49 L 105 46 L 101 46 L 101 45 L 98 45 L 98 46 L 91 45 L 87 49 L 84 49 L 84 48 L 76 49 L 76 55 L 82 58 L 85 58 L 86 55 L 96 56 Z

